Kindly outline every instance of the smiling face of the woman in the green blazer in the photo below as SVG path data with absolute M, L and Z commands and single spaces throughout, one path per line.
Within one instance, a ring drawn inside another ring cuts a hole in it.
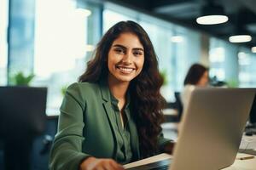
M 130 82 L 143 70 L 144 48 L 135 34 L 125 32 L 108 52 L 108 80 Z

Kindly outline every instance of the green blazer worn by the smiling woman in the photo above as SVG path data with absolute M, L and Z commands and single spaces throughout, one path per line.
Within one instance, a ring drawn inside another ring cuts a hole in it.
M 88 156 L 115 159 L 117 141 L 113 130 L 114 111 L 108 85 L 104 83 L 76 82 L 67 88 L 61 105 L 58 133 L 55 135 L 49 157 L 51 170 L 79 169 Z M 131 118 L 133 159 L 140 159 L 137 127 Z M 159 138 L 159 147 L 170 139 Z

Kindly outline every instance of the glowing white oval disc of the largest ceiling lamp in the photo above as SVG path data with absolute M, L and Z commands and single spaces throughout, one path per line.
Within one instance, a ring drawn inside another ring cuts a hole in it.
M 213 15 L 206 15 L 201 16 L 196 19 L 196 22 L 201 25 L 215 25 L 215 24 L 222 24 L 227 22 L 229 18 L 226 15 L 222 14 L 213 14 Z

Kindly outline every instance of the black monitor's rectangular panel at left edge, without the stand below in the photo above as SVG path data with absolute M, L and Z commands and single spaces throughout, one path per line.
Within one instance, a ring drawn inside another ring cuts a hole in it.
M 47 88 L 0 87 L 0 139 L 44 132 Z

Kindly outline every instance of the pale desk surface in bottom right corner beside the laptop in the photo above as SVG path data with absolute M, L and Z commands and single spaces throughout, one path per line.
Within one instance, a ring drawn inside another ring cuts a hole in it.
M 238 153 L 236 157 L 252 156 L 248 154 Z M 255 170 L 256 169 L 256 156 L 253 159 L 248 160 L 236 160 L 230 167 L 224 168 L 224 170 Z

